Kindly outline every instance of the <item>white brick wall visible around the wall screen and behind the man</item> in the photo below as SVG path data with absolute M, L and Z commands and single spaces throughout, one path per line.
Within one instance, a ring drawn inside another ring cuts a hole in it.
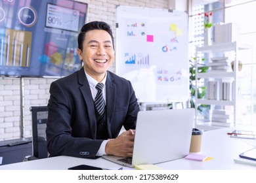
M 168 0 L 79 0 L 88 4 L 87 22 L 107 22 L 116 35 L 116 6 L 168 8 Z M 116 64 L 110 71 L 115 72 Z M 55 78 L 24 78 L 24 137 L 32 136 L 30 106 L 47 105 Z M 20 78 L 0 77 L 0 141 L 20 137 Z

